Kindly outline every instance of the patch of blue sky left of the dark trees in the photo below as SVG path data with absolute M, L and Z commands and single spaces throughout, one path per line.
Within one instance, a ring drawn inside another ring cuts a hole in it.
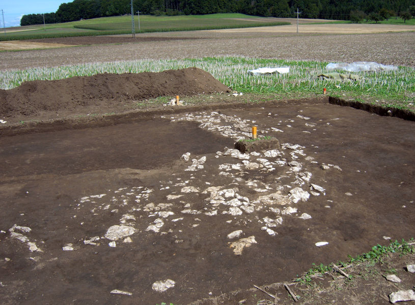
M 6 27 L 20 26 L 20 18 L 28 14 L 54 13 L 62 3 L 73 0 L 0 0 L 0 20 L 3 28 L 3 16 Z

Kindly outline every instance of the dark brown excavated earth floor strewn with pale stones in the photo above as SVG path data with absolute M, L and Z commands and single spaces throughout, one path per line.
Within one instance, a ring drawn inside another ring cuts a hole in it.
M 63 111 L 73 114 L 82 107 L 77 103 Z M 413 121 L 329 104 L 328 97 L 116 113 L 87 120 L 76 130 L 70 129 L 76 125 L 73 117 L 52 119 L 56 111 L 51 110 L 43 113 L 49 120 L 41 128 L 33 123 L 26 133 L 26 124 L 13 125 L 20 134 L 0 137 L 3 304 L 237 304 L 242 299 L 256 304 L 266 295 L 249 290 L 254 284 L 289 281 L 312 263 L 347 260 L 377 243 L 387 245 L 384 236 L 415 235 Z M 20 110 L 10 113 L 21 117 Z M 225 131 L 242 135 L 253 125 L 260 135 L 280 140 L 279 156 L 261 152 L 249 160 L 259 164 L 264 161 L 257 158 L 265 158 L 273 170 L 246 169 L 241 159 L 216 153 L 236 141 Z M 186 152 L 187 163 L 181 160 Z M 196 161 L 202 157 L 206 162 Z M 189 171 L 191 159 L 203 168 Z M 300 169 L 284 160 L 300 163 Z M 323 187 L 324 194 L 297 203 L 258 201 L 273 193 L 288 196 L 295 187 L 311 192 L 311 184 Z M 226 201 L 247 198 L 255 210 L 232 216 L 229 203 L 209 200 L 212 191 L 203 192 L 208 187 L 233 189 L 238 196 Z M 283 214 L 287 206 L 297 211 Z M 205 214 L 214 210 L 217 215 Z M 160 211 L 174 215 L 163 218 Z M 303 213 L 312 218 L 300 219 Z M 134 219 L 125 220 L 126 215 Z M 261 229 L 265 217 L 282 217 L 270 227 L 275 236 Z M 160 232 L 147 231 L 156 219 L 163 222 Z M 121 239 L 116 248 L 108 247 L 103 236 L 123 222 L 136 229 L 132 242 Z M 26 241 L 13 238 L 14 224 L 30 227 L 23 235 L 43 252 L 31 252 Z M 241 235 L 228 238 L 235 230 Z M 85 245 L 94 236 L 101 237 L 99 245 Z M 250 236 L 257 243 L 235 255 L 229 242 Z M 318 241 L 329 243 L 316 247 Z M 63 251 L 68 243 L 73 251 Z M 166 279 L 175 286 L 152 289 Z M 407 289 L 415 284 L 413 276 L 405 281 Z M 367 291 L 365 284 L 353 291 Z M 388 285 L 385 295 L 397 290 Z M 110 294 L 114 289 L 132 295 Z M 241 294 L 229 293 L 239 289 Z M 228 294 L 215 299 L 223 293 Z M 370 302 L 389 303 L 380 296 Z M 362 300 L 344 297 L 336 303 Z

